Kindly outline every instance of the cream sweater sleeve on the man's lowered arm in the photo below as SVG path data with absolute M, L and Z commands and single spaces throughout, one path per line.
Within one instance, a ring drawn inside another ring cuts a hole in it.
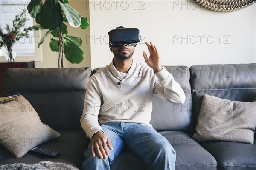
M 84 98 L 84 110 L 80 119 L 81 127 L 90 139 L 94 133 L 102 130 L 98 123 L 101 96 L 96 87 L 96 79 L 92 76 L 87 85 L 87 91 Z

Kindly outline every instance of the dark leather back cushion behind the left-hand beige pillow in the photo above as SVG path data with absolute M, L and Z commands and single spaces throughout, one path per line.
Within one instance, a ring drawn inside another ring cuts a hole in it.
M 4 96 L 23 95 L 55 130 L 82 130 L 80 117 L 90 68 L 9 68 Z

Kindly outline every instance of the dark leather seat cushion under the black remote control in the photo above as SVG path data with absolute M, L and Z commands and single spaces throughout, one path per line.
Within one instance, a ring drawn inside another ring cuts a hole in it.
M 21 158 L 15 158 L 8 150 L 0 145 L 0 164 L 26 163 L 34 164 L 40 161 L 64 162 L 81 169 L 84 161 L 84 151 L 88 146 L 88 139 L 83 130 L 58 130 L 60 137 L 38 145 L 48 150 L 59 151 L 57 158 L 50 158 L 36 153 L 26 153 Z

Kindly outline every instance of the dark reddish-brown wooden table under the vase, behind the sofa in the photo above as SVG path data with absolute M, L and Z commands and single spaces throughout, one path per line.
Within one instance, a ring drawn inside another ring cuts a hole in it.
M 8 68 L 35 68 L 35 61 L 0 62 L 0 97 L 3 97 L 4 74 Z

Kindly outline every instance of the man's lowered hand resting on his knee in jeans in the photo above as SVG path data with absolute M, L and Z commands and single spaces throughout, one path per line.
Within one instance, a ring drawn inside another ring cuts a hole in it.
M 95 156 L 94 148 L 100 159 L 107 159 L 109 156 L 108 148 L 113 150 L 111 140 L 102 131 L 96 132 L 92 137 L 91 153 Z

